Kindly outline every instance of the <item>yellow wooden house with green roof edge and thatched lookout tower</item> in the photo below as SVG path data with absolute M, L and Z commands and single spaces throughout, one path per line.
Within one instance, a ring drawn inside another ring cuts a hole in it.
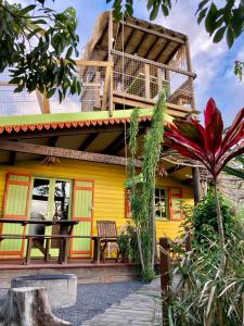
M 38 91 L 20 101 L 14 85 L 1 83 L 14 109 L 11 115 L 0 112 L 0 211 L 12 220 L 79 221 L 73 234 L 86 238 L 70 241 L 68 256 L 90 259 L 97 221 L 115 221 L 118 233 L 130 221 L 126 180 L 132 109 L 141 108 L 140 159 L 162 88 L 169 88 L 167 113 L 187 118 L 195 110 L 195 75 L 187 36 L 137 18 L 117 23 L 108 12 L 99 17 L 77 66 L 81 98 L 62 104 Z M 156 231 L 176 238 L 183 217 L 178 202 L 193 202 L 192 173 L 166 161 L 164 168 L 167 177 L 158 177 L 155 188 Z M 54 226 L 0 226 L 2 235 L 55 233 Z M 50 253 L 57 254 L 55 241 Z M 25 254 L 24 238 L 0 238 L 0 260 Z M 33 248 L 33 258 L 41 254 Z

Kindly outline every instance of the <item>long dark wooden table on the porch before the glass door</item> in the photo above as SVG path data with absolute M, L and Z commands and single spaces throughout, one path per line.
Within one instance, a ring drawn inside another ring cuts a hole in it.
M 70 236 L 74 229 L 74 226 L 79 223 L 77 220 L 53 220 L 53 221 L 39 221 L 39 220 L 16 220 L 16 218 L 0 218 L 0 224 L 9 223 L 9 224 L 21 224 L 26 226 L 28 224 L 35 225 L 44 225 L 44 226 L 52 226 L 52 225 L 60 225 L 60 235 L 62 236 Z M 33 235 L 35 237 L 35 235 Z M 38 235 L 37 235 L 38 237 Z M 60 239 L 60 253 L 59 253 L 59 263 L 67 263 L 68 258 L 68 238 Z M 48 242 L 50 240 L 48 239 Z M 49 243 L 48 243 L 49 246 Z M 28 253 L 29 254 L 29 253 Z

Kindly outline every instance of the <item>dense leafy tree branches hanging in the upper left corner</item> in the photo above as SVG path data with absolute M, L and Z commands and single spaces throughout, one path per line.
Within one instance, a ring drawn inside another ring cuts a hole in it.
M 62 101 L 67 91 L 81 92 L 73 60 L 79 42 L 76 12 L 56 13 L 38 2 L 0 1 L 0 72 L 9 70 L 16 92 L 38 89 L 50 98 L 57 90 Z

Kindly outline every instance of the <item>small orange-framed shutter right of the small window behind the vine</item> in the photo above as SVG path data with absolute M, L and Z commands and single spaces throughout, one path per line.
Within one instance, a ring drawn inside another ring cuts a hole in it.
M 169 217 L 172 221 L 180 221 L 182 218 L 182 188 L 171 187 L 168 189 L 169 197 Z

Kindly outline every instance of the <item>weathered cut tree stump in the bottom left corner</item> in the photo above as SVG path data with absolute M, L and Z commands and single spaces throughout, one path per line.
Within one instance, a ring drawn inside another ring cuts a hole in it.
M 65 326 L 52 314 L 43 287 L 13 288 L 0 309 L 0 326 Z

